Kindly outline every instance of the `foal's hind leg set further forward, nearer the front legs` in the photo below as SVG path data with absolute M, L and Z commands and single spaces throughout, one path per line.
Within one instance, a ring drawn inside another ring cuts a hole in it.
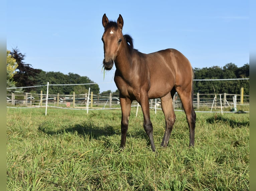
M 172 105 L 172 97 L 173 95 L 169 93 L 161 98 L 162 111 L 165 117 L 165 131 L 161 143 L 161 146 L 163 147 L 166 147 L 169 143 L 172 127 L 176 119 Z

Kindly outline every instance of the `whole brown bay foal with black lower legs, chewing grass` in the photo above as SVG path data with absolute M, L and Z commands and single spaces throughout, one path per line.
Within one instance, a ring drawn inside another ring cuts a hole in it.
M 161 146 L 169 142 L 175 113 L 172 105 L 173 95 L 177 92 L 186 114 L 189 126 L 189 146 L 194 146 L 196 113 L 193 107 L 193 70 L 187 58 L 175 49 L 160 50 L 143 54 L 133 49 L 129 35 L 123 35 L 123 18 L 117 22 L 109 21 L 103 15 L 105 29 L 102 36 L 104 44 L 105 70 L 111 70 L 114 63 L 116 72 L 114 81 L 120 91 L 121 148 L 125 147 L 131 103 L 137 100 L 144 116 L 144 129 L 149 137 L 152 151 L 155 151 L 153 126 L 149 115 L 149 99 L 160 98 L 165 117 L 165 132 Z

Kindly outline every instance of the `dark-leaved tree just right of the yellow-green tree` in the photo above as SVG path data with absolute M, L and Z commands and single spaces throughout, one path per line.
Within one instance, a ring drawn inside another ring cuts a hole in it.
M 17 83 L 17 87 L 35 86 L 35 77 L 40 72 L 40 70 L 33 69 L 32 67 L 30 67 L 30 64 L 25 64 L 23 62 L 25 55 L 21 54 L 17 48 L 12 49 L 12 52 L 10 54 L 18 64 L 17 72 L 13 76 L 14 81 Z M 34 88 L 27 88 L 26 91 L 30 92 L 33 89 Z

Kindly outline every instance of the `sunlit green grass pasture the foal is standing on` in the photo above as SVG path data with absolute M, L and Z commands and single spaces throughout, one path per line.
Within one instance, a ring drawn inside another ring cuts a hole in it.
M 249 113 L 197 113 L 189 148 L 184 112 L 167 148 L 151 111 L 155 155 L 132 109 L 120 151 L 121 110 L 7 108 L 7 190 L 249 190 Z

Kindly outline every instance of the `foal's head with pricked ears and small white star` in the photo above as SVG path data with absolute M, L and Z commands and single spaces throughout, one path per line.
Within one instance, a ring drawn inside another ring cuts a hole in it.
M 124 41 L 122 29 L 123 18 L 119 15 L 117 23 L 108 20 L 106 14 L 102 17 L 102 25 L 105 28 L 105 32 L 102 36 L 104 44 L 104 60 L 103 65 L 105 70 L 111 70 L 114 65 L 114 60 L 120 51 L 122 41 Z

